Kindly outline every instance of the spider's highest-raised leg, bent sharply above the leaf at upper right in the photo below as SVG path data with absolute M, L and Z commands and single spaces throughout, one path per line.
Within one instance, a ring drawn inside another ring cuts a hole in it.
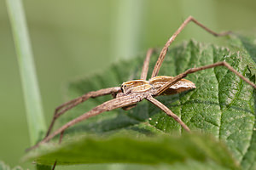
M 168 47 L 171 45 L 171 43 L 175 40 L 175 38 L 177 37 L 177 35 L 183 31 L 183 28 L 185 26 L 187 26 L 189 24 L 190 21 L 193 21 L 197 26 L 201 26 L 202 29 L 204 29 L 205 31 L 209 32 L 210 34 L 212 34 L 215 37 L 220 37 L 220 36 L 226 36 L 228 34 L 230 34 L 230 31 L 225 31 L 225 32 L 221 32 L 221 33 L 217 33 L 215 31 L 210 30 L 209 28 L 207 28 L 207 26 L 202 25 L 200 22 L 198 22 L 197 20 L 195 20 L 192 16 L 189 16 L 186 20 L 184 20 L 183 24 L 177 29 L 176 32 L 174 32 L 174 34 L 172 35 L 172 37 L 166 42 L 166 45 L 164 48 L 162 48 L 161 52 L 160 52 L 160 56 L 158 58 L 158 60 L 156 61 L 155 65 L 154 65 L 154 70 L 152 72 L 152 76 L 156 77 L 158 75 L 158 72 L 160 71 L 160 66 L 162 65 L 163 60 L 165 59 Z

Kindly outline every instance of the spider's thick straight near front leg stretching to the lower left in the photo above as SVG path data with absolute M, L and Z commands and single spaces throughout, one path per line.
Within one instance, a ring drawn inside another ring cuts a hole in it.
M 92 110 L 84 113 L 81 116 L 78 116 L 77 118 L 73 119 L 70 122 L 67 122 L 65 125 L 63 125 L 59 129 L 57 129 L 55 132 L 49 134 L 43 140 L 38 142 L 38 144 L 32 146 L 28 150 L 37 148 L 39 144 L 44 144 L 45 142 L 48 142 L 50 139 L 54 138 L 57 134 L 64 132 L 67 129 L 67 127 L 72 127 L 73 125 L 75 125 L 81 121 L 84 121 L 85 119 L 88 119 L 91 116 L 99 115 L 104 111 L 112 111 L 114 109 L 125 107 L 127 105 L 137 104 L 137 102 L 140 102 L 145 97 L 146 96 L 143 94 L 128 94 L 128 95 L 125 95 L 125 96 L 122 96 L 122 97 L 119 97 L 116 99 L 108 100 L 108 101 L 102 103 L 102 105 L 97 105 Z

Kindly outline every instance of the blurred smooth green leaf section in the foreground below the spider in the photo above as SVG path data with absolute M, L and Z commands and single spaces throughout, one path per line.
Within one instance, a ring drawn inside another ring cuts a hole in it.
M 218 147 L 215 147 L 218 146 Z M 84 151 L 81 151 L 84 150 Z M 220 167 L 238 168 L 224 144 L 210 136 L 186 134 L 180 137 L 155 136 L 133 139 L 132 136 L 96 138 L 86 136 L 58 144 L 45 144 L 25 159 L 34 159 L 45 165 L 55 162 L 58 165 L 81 163 L 174 163 L 193 159 L 216 162 Z

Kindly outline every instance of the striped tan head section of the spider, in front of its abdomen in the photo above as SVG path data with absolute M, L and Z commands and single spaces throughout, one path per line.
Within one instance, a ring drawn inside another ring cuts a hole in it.
M 144 80 L 132 80 L 129 82 L 123 82 L 121 85 L 121 90 L 124 94 L 143 93 L 151 88 L 152 86 Z

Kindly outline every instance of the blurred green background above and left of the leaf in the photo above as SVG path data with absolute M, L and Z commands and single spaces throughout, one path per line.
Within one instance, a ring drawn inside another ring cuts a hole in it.
M 65 84 L 119 59 L 163 47 L 189 15 L 214 31 L 255 35 L 253 0 L 23 0 L 47 124 L 63 102 Z M 224 44 L 194 24 L 177 42 Z M 19 68 L 5 1 L 0 1 L 0 160 L 11 167 L 29 146 Z M 121 83 L 121 82 L 120 82 Z

